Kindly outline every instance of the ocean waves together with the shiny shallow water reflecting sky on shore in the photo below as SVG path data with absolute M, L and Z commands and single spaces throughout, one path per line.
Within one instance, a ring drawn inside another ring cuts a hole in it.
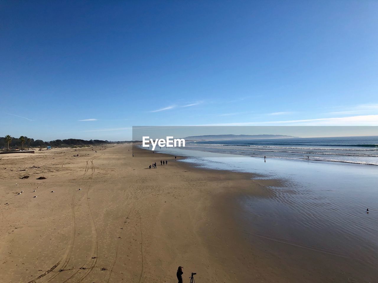
M 297 266 L 303 274 L 313 274 L 315 268 L 329 282 L 374 282 L 377 143 L 377 137 L 207 141 L 157 151 L 185 156 L 177 162 L 199 168 L 253 173 L 251 181 L 282 180 L 281 186 L 267 187 L 270 197 L 244 194 L 235 200 L 235 215 L 251 245 L 262 241 L 273 256 L 284 259 L 287 270 Z M 248 154 L 239 153 L 245 147 Z M 311 158 L 299 152 L 312 152 Z M 314 157 L 318 155 L 328 158 Z M 304 251 L 307 259 L 282 252 L 290 247 Z

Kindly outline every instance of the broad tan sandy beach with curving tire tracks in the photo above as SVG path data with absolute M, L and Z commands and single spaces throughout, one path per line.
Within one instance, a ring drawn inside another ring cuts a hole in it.
M 279 180 L 198 169 L 130 145 L 96 150 L 2 156 L 2 282 L 176 282 L 179 265 L 184 282 L 191 272 L 197 282 L 350 278 L 353 258 L 271 240 L 243 219 L 240 198 L 268 200 Z

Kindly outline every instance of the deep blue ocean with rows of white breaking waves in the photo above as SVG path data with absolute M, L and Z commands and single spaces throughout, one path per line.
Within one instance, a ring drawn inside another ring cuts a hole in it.
M 251 157 L 378 165 L 378 136 L 187 141 L 185 148 Z

